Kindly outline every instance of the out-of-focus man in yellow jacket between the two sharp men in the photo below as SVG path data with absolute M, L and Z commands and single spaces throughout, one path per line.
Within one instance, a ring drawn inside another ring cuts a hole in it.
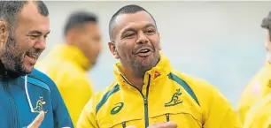
M 66 43 L 52 49 L 37 68 L 57 84 L 75 125 L 93 94 L 87 72 L 101 50 L 97 17 L 86 11 L 73 12 L 64 34 Z

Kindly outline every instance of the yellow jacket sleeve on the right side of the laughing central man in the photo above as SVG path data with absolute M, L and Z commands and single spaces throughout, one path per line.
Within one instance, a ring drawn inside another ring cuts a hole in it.
M 209 88 L 206 88 L 209 89 Z M 235 109 L 216 88 L 210 88 L 210 99 L 205 109 L 204 128 L 242 128 Z

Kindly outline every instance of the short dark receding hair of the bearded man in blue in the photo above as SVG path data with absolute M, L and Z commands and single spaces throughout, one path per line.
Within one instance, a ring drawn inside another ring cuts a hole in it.
M 4 19 L 10 29 L 15 27 L 18 18 L 18 13 L 22 7 L 29 1 L 0 1 L 0 19 Z M 47 17 L 49 11 L 43 1 L 35 1 L 38 11 L 41 15 Z

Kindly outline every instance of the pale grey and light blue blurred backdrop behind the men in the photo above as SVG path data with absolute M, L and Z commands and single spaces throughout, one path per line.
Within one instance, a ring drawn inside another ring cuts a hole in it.
M 180 72 L 208 80 L 236 107 L 252 75 L 265 64 L 265 31 L 259 25 L 271 10 L 271 2 L 55 2 L 47 1 L 50 36 L 46 56 L 63 43 L 63 26 L 72 11 L 92 11 L 99 17 L 104 49 L 89 72 L 95 91 L 112 81 L 117 62 L 108 47 L 108 23 L 126 4 L 143 6 L 157 21 L 162 51 Z M 41 59 L 40 59 L 41 60 Z

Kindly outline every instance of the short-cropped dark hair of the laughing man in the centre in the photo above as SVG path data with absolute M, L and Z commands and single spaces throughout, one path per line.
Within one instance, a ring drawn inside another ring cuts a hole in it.
M 139 5 L 136 5 L 136 4 L 129 4 L 129 5 L 126 5 L 122 8 L 120 8 L 119 11 L 115 12 L 113 15 L 112 15 L 112 18 L 110 19 L 110 22 L 109 22 L 109 36 L 110 36 L 110 40 L 113 41 L 114 40 L 114 27 L 115 27 L 115 19 L 121 15 L 121 14 L 131 14 L 131 13 L 136 13 L 138 11 L 145 11 L 147 12 L 148 14 L 150 14 L 151 18 L 154 20 L 154 23 L 155 23 L 155 26 L 156 26 L 156 21 L 155 19 L 153 18 L 153 16 L 151 15 L 150 12 L 146 11 L 143 7 L 139 6 Z

